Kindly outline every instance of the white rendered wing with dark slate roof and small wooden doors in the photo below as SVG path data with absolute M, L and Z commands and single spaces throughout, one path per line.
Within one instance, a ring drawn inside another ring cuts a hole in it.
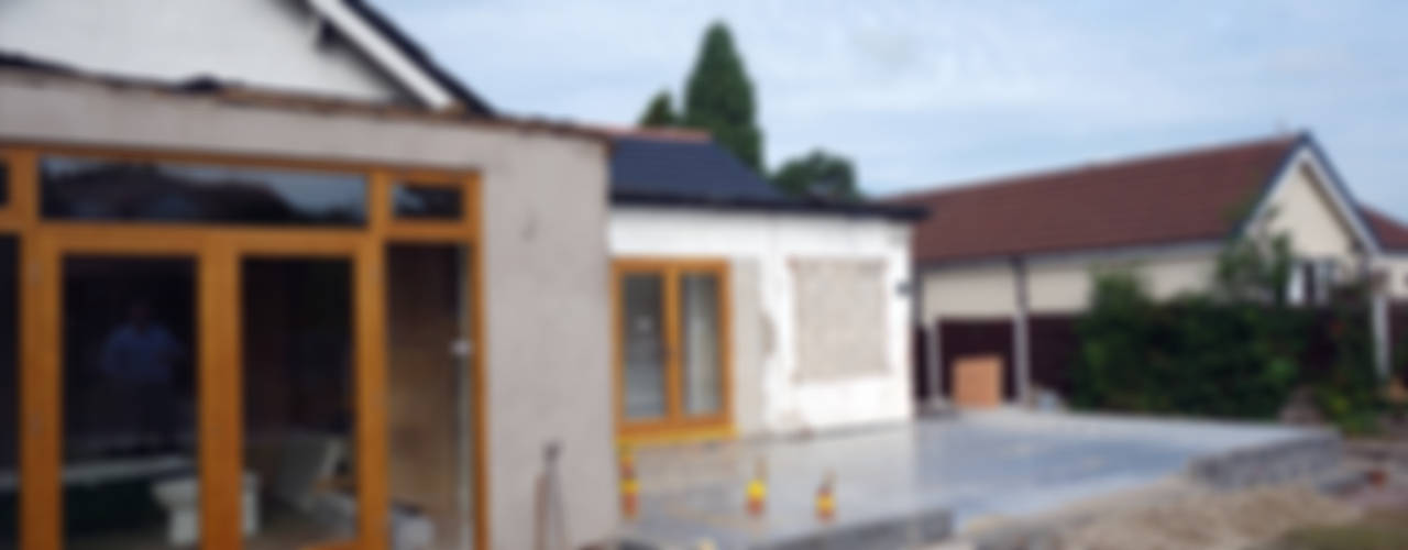
M 622 440 L 908 419 L 908 241 L 922 215 L 786 196 L 704 134 L 617 132 Z

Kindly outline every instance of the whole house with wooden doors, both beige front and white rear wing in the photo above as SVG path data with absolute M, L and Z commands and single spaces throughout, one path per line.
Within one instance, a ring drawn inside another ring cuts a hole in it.
M 910 416 L 921 217 L 504 115 L 362 0 L 6 3 L 0 549 L 598 542 L 618 445 Z

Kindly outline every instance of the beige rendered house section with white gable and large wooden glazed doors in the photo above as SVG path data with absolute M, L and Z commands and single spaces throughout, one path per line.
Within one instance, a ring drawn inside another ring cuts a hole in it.
M 617 525 L 608 135 L 359 0 L 8 1 L 0 52 L 0 547 L 531 547 L 548 446 Z

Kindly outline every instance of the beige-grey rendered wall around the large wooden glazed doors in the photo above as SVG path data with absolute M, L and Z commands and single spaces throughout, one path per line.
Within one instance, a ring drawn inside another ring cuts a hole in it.
M 617 526 L 604 143 L 514 127 L 227 104 L 11 70 L 0 70 L 0 141 L 477 170 L 489 547 L 532 547 L 532 487 L 549 442 L 562 445 L 560 471 L 580 473 L 562 477 L 572 547 Z

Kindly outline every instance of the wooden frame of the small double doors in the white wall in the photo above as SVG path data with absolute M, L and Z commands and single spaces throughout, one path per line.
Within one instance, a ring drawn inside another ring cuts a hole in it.
M 659 274 L 663 284 L 665 321 L 665 404 L 660 419 L 631 421 L 625 415 L 625 304 L 621 284 L 628 274 Z M 718 280 L 719 411 L 689 416 L 683 412 L 683 362 L 680 352 L 680 277 L 708 273 Z M 617 257 L 611 262 L 612 367 L 617 437 L 622 443 L 669 439 L 731 437 L 734 435 L 734 338 L 732 291 L 727 259 L 712 257 Z

